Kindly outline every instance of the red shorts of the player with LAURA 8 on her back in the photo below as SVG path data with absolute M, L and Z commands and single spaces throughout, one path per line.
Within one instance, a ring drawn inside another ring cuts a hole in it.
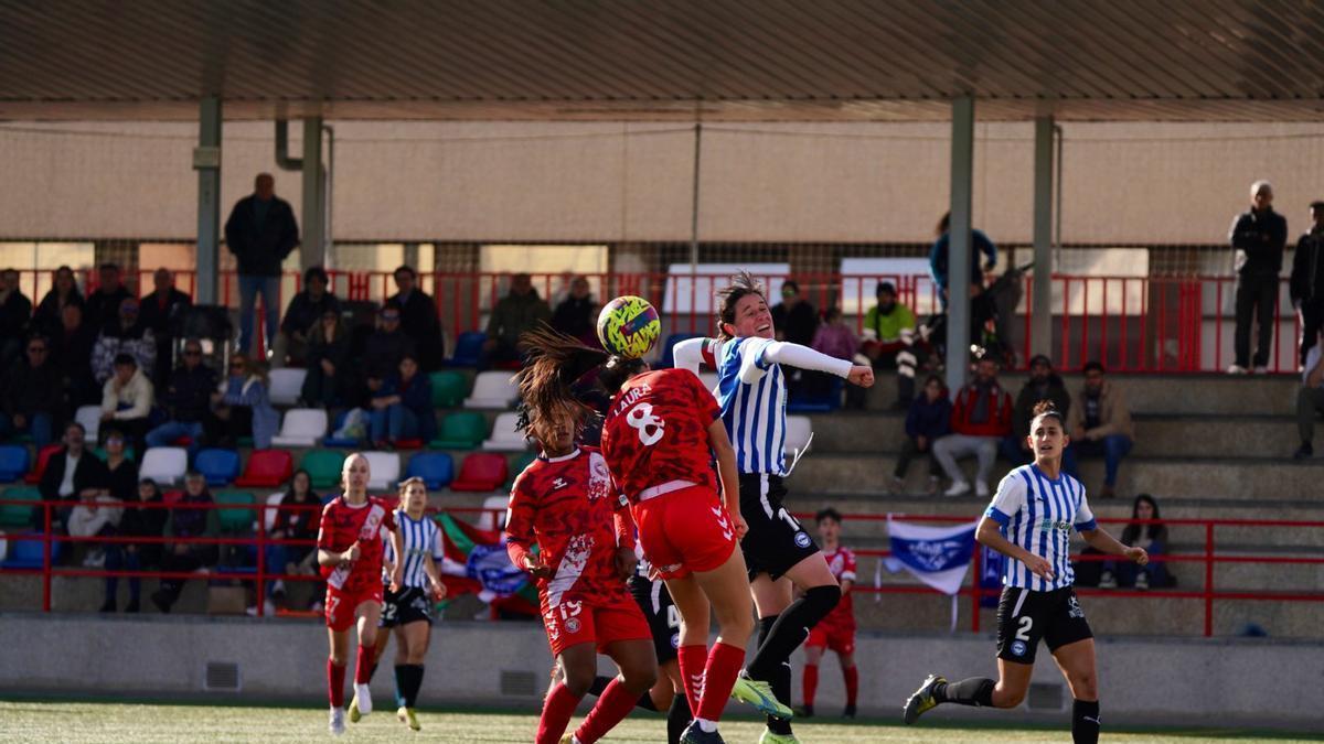
M 727 563 L 736 531 L 727 508 L 708 486 L 690 486 L 634 504 L 643 557 L 662 579 L 685 579 Z

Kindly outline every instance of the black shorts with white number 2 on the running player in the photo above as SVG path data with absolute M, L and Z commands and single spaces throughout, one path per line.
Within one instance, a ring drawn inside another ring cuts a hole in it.
M 1049 645 L 1049 651 L 1094 638 L 1075 589 L 1002 589 L 1002 598 L 997 604 L 997 658 L 1033 665 L 1039 638 Z

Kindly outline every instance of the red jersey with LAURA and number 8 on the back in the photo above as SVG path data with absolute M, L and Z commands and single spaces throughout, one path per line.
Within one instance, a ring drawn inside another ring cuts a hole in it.
M 671 481 L 716 490 L 708 426 L 719 416 L 716 398 L 688 369 L 645 372 L 625 383 L 602 424 L 602 454 L 630 503 Z

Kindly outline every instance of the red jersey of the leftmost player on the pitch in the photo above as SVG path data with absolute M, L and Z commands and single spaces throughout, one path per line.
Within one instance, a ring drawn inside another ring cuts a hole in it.
M 355 592 L 381 584 L 381 528 L 396 530 L 393 508 L 392 502 L 377 496 L 368 496 L 367 503 L 359 506 L 350 506 L 344 496 L 336 496 L 322 510 L 318 548 L 339 553 L 350 549 L 356 540 L 359 543 L 359 560 L 354 564 L 322 568 L 330 586 Z

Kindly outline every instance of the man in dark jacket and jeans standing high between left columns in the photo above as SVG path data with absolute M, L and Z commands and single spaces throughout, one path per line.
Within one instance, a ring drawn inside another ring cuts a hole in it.
M 252 196 L 234 204 L 225 221 L 225 245 L 234 254 L 240 273 L 240 351 L 252 353 L 257 295 L 262 295 L 270 344 L 281 320 L 281 262 L 299 245 L 294 209 L 275 196 L 271 173 L 258 173 Z

